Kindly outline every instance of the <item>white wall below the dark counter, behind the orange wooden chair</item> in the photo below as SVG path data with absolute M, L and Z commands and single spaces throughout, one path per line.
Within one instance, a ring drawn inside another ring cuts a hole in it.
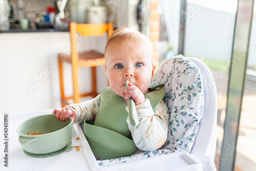
M 80 40 L 79 50 L 104 51 L 106 35 Z M 100 42 L 100 44 L 99 44 Z M 98 45 L 99 44 L 99 45 Z M 19 113 L 60 108 L 57 54 L 69 52 L 69 32 L 0 34 L 0 112 Z M 67 63 L 66 93 L 72 95 L 72 72 Z M 98 91 L 108 86 L 103 66 L 97 68 Z M 89 68 L 79 69 L 80 90 L 91 89 Z

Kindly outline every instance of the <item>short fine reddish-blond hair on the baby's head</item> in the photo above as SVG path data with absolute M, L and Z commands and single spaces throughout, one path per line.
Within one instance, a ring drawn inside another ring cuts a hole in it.
M 152 62 L 154 62 L 153 47 L 152 47 L 151 41 L 143 33 L 133 30 L 133 29 L 129 29 L 129 28 L 118 28 L 118 29 L 114 30 L 106 44 L 105 54 L 106 54 L 106 50 L 108 49 L 109 45 L 113 41 L 115 41 L 115 43 L 119 43 L 119 42 L 125 43 L 125 42 L 135 41 L 135 42 L 143 42 L 143 43 L 147 44 L 148 49 L 150 49 L 150 51 L 151 51 L 150 54 L 152 55 L 151 56 Z

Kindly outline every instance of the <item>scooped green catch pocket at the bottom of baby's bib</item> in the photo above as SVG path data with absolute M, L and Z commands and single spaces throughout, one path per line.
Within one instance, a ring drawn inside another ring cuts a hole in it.
M 137 146 L 133 140 L 93 124 L 94 121 L 85 120 L 83 133 L 97 157 L 103 160 L 114 159 L 131 156 L 136 151 Z

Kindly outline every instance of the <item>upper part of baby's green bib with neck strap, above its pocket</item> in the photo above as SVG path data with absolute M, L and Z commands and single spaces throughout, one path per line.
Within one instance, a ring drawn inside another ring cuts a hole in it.
M 164 84 L 150 88 L 150 93 L 145 98 L 150 99 L 152 108 L 163 99 L 165 95 Z M 94 125 L 117 132 L 125 137 L 130 137 L 131 132 L 127 125 L 128 116 L 125 107 L 127 102 L 121 96 L 115 94 L 110 87 L 104 89 L 100 94 L 100 106 Z

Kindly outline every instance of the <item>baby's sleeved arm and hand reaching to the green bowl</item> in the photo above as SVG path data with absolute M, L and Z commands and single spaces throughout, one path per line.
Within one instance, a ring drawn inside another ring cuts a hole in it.
M 63 118 L 67 120 L 71 116 L 74 123 L 81 123 L 84 119 L 92 120 L 99 108 L 99 96 L 84 102 L 69 104 L 65 108 L 55 109 L 53 114 L 56 114 L 56 118 L 59 120 L 63 120 Z

